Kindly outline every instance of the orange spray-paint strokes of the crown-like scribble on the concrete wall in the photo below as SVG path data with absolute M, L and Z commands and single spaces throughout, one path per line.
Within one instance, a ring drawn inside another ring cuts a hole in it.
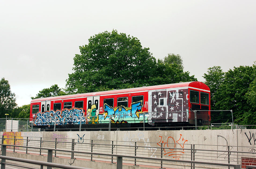
M 180 134 L 180 139 L 181 139 L 181 136 L 182 136 L 182 134 Z M 160 145 L 159 143 L 161 143 L 163 137 L 162 137 L 162 136 L 159 136 L 159 137 L 161 137 L 161 140 L 160 140 L 157 144 L 161 147 L 161 145 Z M 185 142 L 188 141 L 188 140 L 185 140 L 184 138 L 182 138 L 182 141 L 184 141 L 184 142 L 183 142 L 183 146 L 182 146 L 182 145 L 178 142 L 178 141 L 180 141 L 180 139 L 175 142 L 175 140 L 174 140 L 173 137 L 168 137 L 168 138 L 167 138 L 167 142 L 162 141 L 162 143 L 164 143 L 163 147 L 166 147 L 166 145 L 167 145 L 167 147 L 169 148 L 168 144 L 171 144 L 170 141 L 169 141 L 169 138 L 171 138 L 171 139 L 173 140 L 174 148 L 176 148 L 176 143 L 178 143 L 178 144 L 181 146 L 181 148 L 184 148 Z M 167 155 L 167 154 L 168 154 L 168 156 L 172 156 L 173 158 L 178 158 L 177 160 L 179 160 L 179 158 L 181 157 L 181 155 L 180 155 L 180 154 L 177 154 L 177 153 L 183 153 L 183 154 L 185 153 L 185 152 L 184 152 L 184 149 L 183 149 L 183 151 L 173 151 L 174 149 L 170 149 L 170 148 L 169 148 L 169 150 L 170 150 L 169 152 L 166 152 L 165 148 L 164 148 L 163 150 L 164 150 L 164 152 L 165 152 L 164 155 Z M 168 150 L 167 150 L 167 151 L 168 151 Z M 174 155 L 175 155 L 175 156 L 174 156 Z M 177 156 L 177 155 L 178 155 L 178 156 Z

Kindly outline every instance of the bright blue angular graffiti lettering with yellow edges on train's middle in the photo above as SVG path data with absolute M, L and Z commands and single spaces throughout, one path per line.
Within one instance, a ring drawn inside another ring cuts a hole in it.
M 124 106 L 117 107 L 117 108 L 112 108 L 111 106 L 105 104 L 105 118 L 109 115 L 111 116 L 118 116 L 118 119 L 123 119 L 125 117 L 132 117 L 135 118 L 137 117 L 138 119 L 140 118 L 140 114 L 143 113 L 141 112 L 142 109 L 142 101 L 138 101 L 135 103 L 131 104 L 130 108 L 126 108 Z

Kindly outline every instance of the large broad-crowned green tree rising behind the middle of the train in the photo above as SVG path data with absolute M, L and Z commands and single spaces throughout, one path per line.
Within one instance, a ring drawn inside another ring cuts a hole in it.
M 102 32 L 79 46 L 74 73 L 67 79 L 69 93 L 145 86 L 156 71 L 156 59 L 140 41 L 125 33 Z

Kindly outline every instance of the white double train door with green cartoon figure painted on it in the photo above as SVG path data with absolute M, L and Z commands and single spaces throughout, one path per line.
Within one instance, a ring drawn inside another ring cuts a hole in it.
M 90 119 L 91 119 L 91 121 L 93 121 L 93 123 L 98 122 L 99 105 L 100 105 L 99 101 L 100 101 L 100 96 L 87 97 L 86 114 L 87 114 L 87 116 L 92 116 L 92 117 L 90 117 Z

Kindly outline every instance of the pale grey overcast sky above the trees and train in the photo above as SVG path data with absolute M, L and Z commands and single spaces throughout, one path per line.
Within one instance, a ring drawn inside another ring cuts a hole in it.
M 18 106 L 30 104 L 43 88 L 64 88 L 79 46 L 113 29 L 137 37 L 156 59 L 180 54 L 199 81 L 209 67 L 256 61 L 255 0 L 1 1 L 0 78 Z

